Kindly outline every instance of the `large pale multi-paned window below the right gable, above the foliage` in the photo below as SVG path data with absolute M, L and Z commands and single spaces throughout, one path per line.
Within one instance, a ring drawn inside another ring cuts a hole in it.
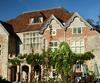
M 71 41 L 70 42 L 71 50 L 75 53 L 84 53 L 84 40 L 77 40 L 77 41 Z

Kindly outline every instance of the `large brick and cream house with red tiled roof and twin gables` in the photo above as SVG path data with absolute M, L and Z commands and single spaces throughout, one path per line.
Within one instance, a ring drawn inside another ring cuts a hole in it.
M 38 53 L 41 52 L 41 49 L 48 48 L 50 44 L 53 50 L 58 48 L 60 42 L 67 41 L 75 53 L 84 53 L 93 50 L 95 59 L 87 62 L 88 67 L 93 70 L 93 65 L 91 64 L 96 61 L 100 70 L 100 34 L 96 30 L 93 30 L 93 27 L 77 12 L 69 12 L 64 8 L 30 11 L 8 20 L 6 23 L 12 25 L 14 33 L 20 39 L 21 43 L 15 42 L 15 45 L 19 45 L 17 53 L 30 53 L 32 52 L 32 48 Z M 1 28 L 5 29 L 5 26 Z M 3 31 L 3 33 L 5 32 Z M 9 43 L 6 46 L 8 45 Z M 8 47 L 8 49 L 10 48 Z M 8 55 L 11 58 L 17 54 L 16 51 L 15 54 L 7 51 L 6 53 L 6 63 Z M 30 81 L 31 66 L 23 63 L 21 64 L 21 71 L 26 72 L 28 81 Z M 12 74 L 13 72 L 14 74 Z M 82 72 L 82 67 L 78 68 L 76 72 Z M 7 74 L 6 66 L 5 77 L 9 80 L 17 81 L 18 73 L 18 67 L 9 67 Z M 53 73 L 50 73 L 50 76 L 53 77 Z

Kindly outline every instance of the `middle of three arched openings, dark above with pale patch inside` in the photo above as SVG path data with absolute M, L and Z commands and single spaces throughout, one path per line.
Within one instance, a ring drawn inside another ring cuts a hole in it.
M 22 80 L 24 82 L 28 82 L 28 73 L 29 73 L 29 67 L 24 65 L 22 66 Z

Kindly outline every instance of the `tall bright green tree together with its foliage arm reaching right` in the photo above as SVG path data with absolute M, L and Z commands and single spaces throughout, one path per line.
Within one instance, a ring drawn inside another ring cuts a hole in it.
M 84 61 L 94 58 L 91 52 L 85 52 L 84 54 L 73 53 L 67 42 L 62 42 L 52 56 L 55 61 L 56 70 L 61 74 L 64 83 L 66 83 L 66 78 L 69 76 L 71 79 L 74 77 L 73 66 L 77 62 L 83 64 Z

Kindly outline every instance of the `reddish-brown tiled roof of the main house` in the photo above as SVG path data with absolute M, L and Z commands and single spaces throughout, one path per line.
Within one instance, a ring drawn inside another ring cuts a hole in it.
M 40 30 L 42 24 L 44 24 L 44 22 L 52 14 L 60 22 L 65 22 L 72 16 L 72 13 L 69 13 L 64 8 L 54 8 L 54 9 L 31 11 L 31 12 L 22 13 L 21 15 L 17 16 L 15 19 L 8 20 L 7 23 L 11 24 L 14 27 L 15 32 Z M 30 25 L 29 24 L 30 18 L 34 18 L 34 17 L 38 17 L 38 16 L 42 16 L 44 19 L 44 22 L 41 24 Z

